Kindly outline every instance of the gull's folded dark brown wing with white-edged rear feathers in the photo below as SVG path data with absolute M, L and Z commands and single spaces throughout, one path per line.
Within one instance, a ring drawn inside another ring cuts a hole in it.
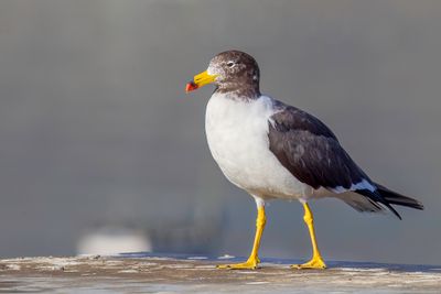
M 394 203 L 380 194 L 376 184 L 356 165 L 323 122 L 279 101 L 275 107 L 278 111 L 269 121 L 269 149 L 293 176 L 315 189 L 324 187 L 336 193 L 353 190 L 366 197 L 367 202 L 359 206 L 341 196 L 358 210 L 378 211 L 383 209 L 381 204 L 401 218 L 390 206 Z

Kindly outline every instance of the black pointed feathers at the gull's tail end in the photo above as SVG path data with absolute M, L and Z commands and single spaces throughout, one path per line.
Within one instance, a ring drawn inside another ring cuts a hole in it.
M 391 205 L 400 205 L 400 206 L 407 206 L 411 207 L 415 209 L 424 209 L 422 204 L 413 198 L 400 195 L 394 190 L 390 190 L 386 188 L 385 186 L 381 186 L 379 184 L 375 184 L 377 186 L 377 189 L 375 192 L 370 192 L 368 189 L 358 189 L 355 190 L 356 193 L 368 197 L 370 200 L 373 200 L 376 204 L 383 204 L 387 208 L 389 208 L 390 211 L 394 213 L 399 219 L 401 219 L 401 216 L 395 210 L 395 208 Z

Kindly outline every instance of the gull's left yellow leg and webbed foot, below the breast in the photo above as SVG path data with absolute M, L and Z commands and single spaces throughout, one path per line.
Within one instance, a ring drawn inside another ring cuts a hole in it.
M 267 222 L 267 217 L 265 216 L 265 206 L 258 205 L 257 207 L 257 219 L 256 219 L 256 237 L 252 244 L 251 254 L 246 262 L 234 263 L 234 264 L 220 264 L 217 269 L 229 269 L 229 270 L 255 270 L 259 264 L 260 260 L 258 257 L 260 238 L 263 232 L 265 224 Z

